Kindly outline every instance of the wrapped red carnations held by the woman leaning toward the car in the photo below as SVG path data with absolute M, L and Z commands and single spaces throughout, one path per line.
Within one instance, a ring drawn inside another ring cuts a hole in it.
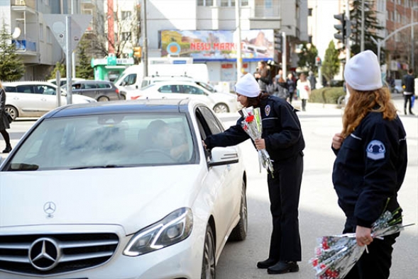
M 243 130 L 246 131 L 251 139 L 260 139 L 261 134 L 263 133 L 260 108 L 253 108 L 251 106 L 249 108 L 241 109 L 240 113 L 244 118 L 244 120 L 241 122 Z M 273 176 L 273 164 L 270 160 L 270 155 L 268 155 L 267 150 L 258 150 L 258 164 L 260 166 L 260 172 L 261 166 L 263 166 L 265 169 L 267 169 L 267 171 L 270 171 L 271 175 Z

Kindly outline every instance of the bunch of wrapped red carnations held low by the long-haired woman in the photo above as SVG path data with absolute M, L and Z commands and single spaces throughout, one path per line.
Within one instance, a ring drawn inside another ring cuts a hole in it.
M 400 209 L 394 212 L 385 211 L 373 223 L 372 237 L 382 239 L 411 225 L 404 226 L 401 222 Z M 358 246 L 356 234 L 319 237 L 317 243 L 318 246 L 315 248 L 316 256 L 310 260 L 316 279 L 344 278 L 363 252 L 368 252 L 367 246 Z

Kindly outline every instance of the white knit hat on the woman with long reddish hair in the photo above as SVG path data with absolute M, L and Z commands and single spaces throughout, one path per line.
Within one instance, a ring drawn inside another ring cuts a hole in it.
M 344 69 L 344 79 L 353 89 L 370 91 L 383 87 L 378 57 L 365 50 L 351 57 Z

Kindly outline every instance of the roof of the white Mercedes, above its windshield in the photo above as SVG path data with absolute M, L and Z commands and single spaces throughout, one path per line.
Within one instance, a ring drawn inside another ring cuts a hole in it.
M 97 103 L 81 103 L 62 106 L 50 111 L 43 118 L 60 118 L 79 115 L 94 115 L 103 113 L 187 113 L 190 106 L 206 106 L 201 101 L 193 99 L 146 99 L 132 101 L 109 101 Z M 207 107 L 207 106 L 206 106 Z

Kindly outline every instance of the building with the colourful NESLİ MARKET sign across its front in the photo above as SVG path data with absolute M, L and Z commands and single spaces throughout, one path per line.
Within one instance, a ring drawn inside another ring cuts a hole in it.
M 192 57 L 209 79 L 236 81 L 238 45 L 235 0 L 147 0 L 148 57 Z M 307 0 L 240 0 L 244 72 L 260 60 L 280 63 L 275 33 L 287 37 L 287 66 L 297 67 L 296 45 L 307 37 Z

